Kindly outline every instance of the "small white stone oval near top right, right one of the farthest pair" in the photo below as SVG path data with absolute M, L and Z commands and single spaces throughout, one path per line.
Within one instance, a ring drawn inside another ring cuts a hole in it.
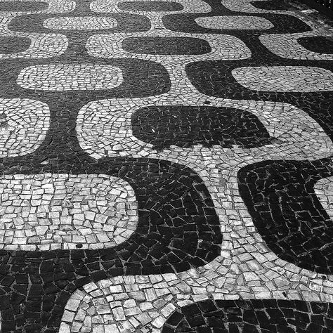
M 195 22 L 201 27 L 221 30 L 266 30 L 274 25 L 259 16 L 209 16 L 196 18 Z

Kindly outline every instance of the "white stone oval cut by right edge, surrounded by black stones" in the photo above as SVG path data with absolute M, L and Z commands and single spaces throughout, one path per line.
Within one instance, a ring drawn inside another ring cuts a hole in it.
M 256 91 L 308 93 L 333 90 L 333 73 L 320 67 L 238 67 L 232 74 L 239 84 Z

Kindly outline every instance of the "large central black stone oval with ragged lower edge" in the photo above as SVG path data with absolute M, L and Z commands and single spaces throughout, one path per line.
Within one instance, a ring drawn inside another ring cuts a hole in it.
M 259 119 L 244 110 L 210 106 L 149 106 L 132 115 L 133 135 L 157 149 L 170 145 L 231 148 L 259 147 L 271 142 Z

